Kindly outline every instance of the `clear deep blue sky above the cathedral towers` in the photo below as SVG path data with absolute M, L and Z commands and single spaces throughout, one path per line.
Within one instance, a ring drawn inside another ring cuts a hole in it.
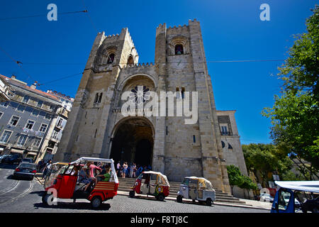
M 58 13 L 82 11 L 83 1 L 1 1 L 0 74 L 16 74 L 28 84 L 35 80 L 43 91 L 54 89 L 75 96 L 81 75 L 45 84 L 84 70 L 98 31 L 106 35 L 128 27 L 140 56 L 154 62 L 155 29 L 201 22 L 206 60 L 281 60 L 293 44 L 293 34 L 306 31 L 305 21 L 318 1 L 311 0 L 211 0 L 211 1 L 97 1 L 84 0 L 88 13 L 60 14 L 47 21 L 47 5 Z M 259 19 L 261 4 L 269 4 L 270 21 Z M 43 15 L 33 18 L 19 16 Z M 270 121 L 261 116 L 274 104 L 281 81 L 277 67 L 283 62 L 208 62 L 216 107 L 237 110 L 235 117 L 242 143 L 270 143 Z M 27 72 L 27 74 L 26 74 Z

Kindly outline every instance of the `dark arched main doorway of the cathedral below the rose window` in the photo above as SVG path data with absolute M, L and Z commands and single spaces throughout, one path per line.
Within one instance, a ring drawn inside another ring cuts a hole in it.
M 153 145 L 152 123 L 146 118 L 128 118 L 115 128 L 110 158 L 116 162 L 152 165 Z

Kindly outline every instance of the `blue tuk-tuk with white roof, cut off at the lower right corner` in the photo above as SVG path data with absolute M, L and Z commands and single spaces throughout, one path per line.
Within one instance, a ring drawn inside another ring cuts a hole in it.
M 271 213 L 318 213 L 319 181 L 275 181 L 275 184 L 279 190 L 274 196 Z

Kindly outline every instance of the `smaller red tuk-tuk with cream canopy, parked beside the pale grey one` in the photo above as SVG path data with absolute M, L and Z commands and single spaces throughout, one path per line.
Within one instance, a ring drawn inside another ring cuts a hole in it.
M 163 201 L 169 195 L 169 182 L 167 177 L 161 172 L 145 171 L 142 172 L 131 187 L 130 197 L 137 194 L 147 194 L 155 196 L 159 201 Z

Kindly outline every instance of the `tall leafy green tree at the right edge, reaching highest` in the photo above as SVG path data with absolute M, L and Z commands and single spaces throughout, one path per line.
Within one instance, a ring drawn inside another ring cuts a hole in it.
M 310 172 L 310 179 L 318 177 L 319 170 L 319 6 L 312 11 L 306 33 L 294 36 L 289 57 L 279 67 L 279 78 L 284 81 L 281 96 L 274 97 L 272 108 L 262 111 L 272 121 L 274 144 L 292 160 L 298 159 L 299 169 Z

